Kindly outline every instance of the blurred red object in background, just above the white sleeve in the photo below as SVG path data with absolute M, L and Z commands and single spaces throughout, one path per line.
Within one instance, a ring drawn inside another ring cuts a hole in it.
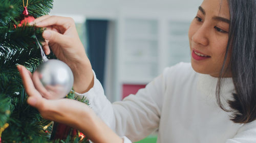
M 145 84 L 123 84 L 122 99 L 130 94 L 136 94 L 139 89 L 143 89 L 145 87 Z

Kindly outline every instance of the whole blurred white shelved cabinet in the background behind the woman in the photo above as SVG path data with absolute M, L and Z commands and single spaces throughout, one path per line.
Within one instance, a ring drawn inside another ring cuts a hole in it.
M 119 14 L 115 101 L 122 99 L 123 84 L 147 84 L 165 67 L 190 61 L 187 35 L 191 18 L 168 13 L 130 11 Z

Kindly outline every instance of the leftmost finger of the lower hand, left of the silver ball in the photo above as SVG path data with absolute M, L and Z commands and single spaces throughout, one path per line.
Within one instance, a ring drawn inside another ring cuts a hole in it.
M 24 66 L 18 65 L 17 69 L 22 77 L 23 85 L 26 90 L 26 93 L 29 96 L 41 97 L 39 92 L 35 89 L 33 81 L 31 79 L 32 74 Z

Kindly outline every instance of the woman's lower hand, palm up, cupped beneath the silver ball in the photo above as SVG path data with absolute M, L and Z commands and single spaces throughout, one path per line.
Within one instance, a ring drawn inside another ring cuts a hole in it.
M 95 143 L 123 142 L 87 104 L 71 99 L 48 100 L 43 98 L 34 87 L 30 71 L 21 65 L 17 66 L 17 69 L 29 96 L 28 104 L 37 108 L 43 118 L 78 129 Z

